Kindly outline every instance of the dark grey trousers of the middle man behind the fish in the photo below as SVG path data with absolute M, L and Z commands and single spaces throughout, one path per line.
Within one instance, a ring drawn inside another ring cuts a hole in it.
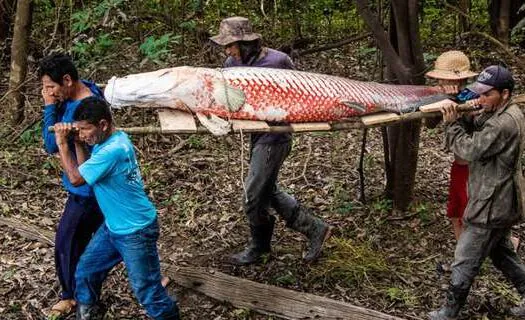
M 279 170 L 291 151 L 292 141 L 252 146 L 250 168 L 246 178 L 244 211 L 250 225 L 268 225 L 268 208 L 275 209 L 288 225 L 295 220 L 299 204 L 294 197 L 279 189 Z

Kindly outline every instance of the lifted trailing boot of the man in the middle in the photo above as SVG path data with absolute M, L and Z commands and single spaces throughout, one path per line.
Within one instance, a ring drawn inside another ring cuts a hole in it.
M 310 263 L 317 260 L 325 241 L 330 237 L 332 227 L 301 206 L 297 208 L 294 221 L 288 226 L 308 238 L 308 251 L 303 257 L 304 261 Z

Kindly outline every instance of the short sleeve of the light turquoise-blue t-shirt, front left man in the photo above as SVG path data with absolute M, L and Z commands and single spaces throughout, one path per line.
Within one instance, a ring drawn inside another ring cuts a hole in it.
M 90 186 L 97 183 L 115 168 L 118 162 L 118 150 L 102 148 L 91 155 L 83 164 L 78 167 L 78 171 L 87 184 Z

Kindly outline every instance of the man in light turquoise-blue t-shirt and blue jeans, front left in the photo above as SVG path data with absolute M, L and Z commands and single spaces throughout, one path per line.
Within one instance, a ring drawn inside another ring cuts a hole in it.
M 148 315 L 178 320 L 177 303 L 161 284 L 157 213 L 144 191 L 133 144 L 124 132 L 115 131 L 104 100 L 84 99 L 74 119 L 74 124 L 55 125 L 60 160 L 73 185 L 87 183 L 93 188 L 105 218 L 77 266 L 77 319 L 99 316 L 102 282 L 123 261 L 133 292 Z M 73 131 L 93 147 L 89 159 L 82 154 L 76 161 L 71 157 L 67 137 Z

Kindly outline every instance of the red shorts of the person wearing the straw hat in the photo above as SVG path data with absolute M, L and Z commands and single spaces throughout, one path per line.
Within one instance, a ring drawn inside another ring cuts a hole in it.
M 448 187 L 447 217 L 463 219 L 467 207 L 468 164 L 452 163 L 450 185 Z

